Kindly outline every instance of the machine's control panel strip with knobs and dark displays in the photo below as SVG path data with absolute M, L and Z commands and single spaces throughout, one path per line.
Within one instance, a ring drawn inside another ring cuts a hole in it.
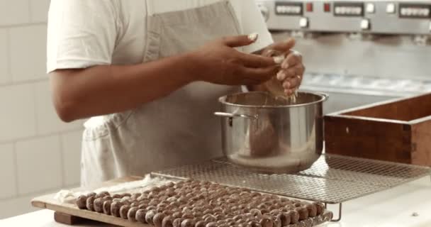
M 431 36 L 431 0 L 255 0 L 270 30 Z

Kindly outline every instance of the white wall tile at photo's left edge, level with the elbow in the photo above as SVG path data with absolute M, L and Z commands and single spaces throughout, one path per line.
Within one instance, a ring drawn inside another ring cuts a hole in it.
M 33 86 L 0 87 L 0 142 L 35 135 Z

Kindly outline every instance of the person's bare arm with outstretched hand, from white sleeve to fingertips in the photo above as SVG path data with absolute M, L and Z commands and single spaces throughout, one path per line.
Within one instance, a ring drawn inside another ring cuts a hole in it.
M 56 70 L 50 73 L 55 109 L 62 121 L 69 122 L 133 109 L 197 80 L 228 85 L 264 82 L 276 72 L 274 61 L 233 49 L 252 42 L 247 36 L 223 38 L 154 62 Z

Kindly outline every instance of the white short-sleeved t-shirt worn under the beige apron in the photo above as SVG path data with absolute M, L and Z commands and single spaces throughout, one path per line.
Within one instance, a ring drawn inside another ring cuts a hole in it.
M 94 65 L 142 62 L 146 16 L 193 9 L 220 0 L 51 0 L 47 32 L 47 72 Z M 273 42 L 254 0 L 230 0 L 243 34 L 259 33 L 245 48 L 254 52 Z

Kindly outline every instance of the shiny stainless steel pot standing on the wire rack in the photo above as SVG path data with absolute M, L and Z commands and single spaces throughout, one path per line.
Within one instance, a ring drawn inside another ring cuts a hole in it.
M 298 92 L 296 103 L 267 92 L 220 97 L 223 153 L 230 162 L 267 173 L 313 165 L 323 150 L 325 94 Z

